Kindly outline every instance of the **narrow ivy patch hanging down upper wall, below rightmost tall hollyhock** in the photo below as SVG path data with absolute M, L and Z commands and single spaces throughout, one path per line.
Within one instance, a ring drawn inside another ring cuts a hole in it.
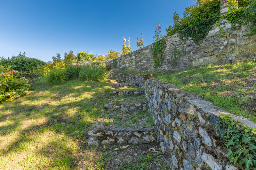
M 153 55 L 153 64 L 158 68 L 162 65 L 164 61 L 164 38 L 156 41 L 151 46 L 151 53 Z

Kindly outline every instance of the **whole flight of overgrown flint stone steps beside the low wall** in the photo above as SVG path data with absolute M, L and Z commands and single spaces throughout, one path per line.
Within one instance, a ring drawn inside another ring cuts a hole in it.
M 107 82 L 113 87 L 113 101 L 106 104 L 100 119 L 93 123 L 88 132 L 88 145 L 147 144 L 155 141 L 155 130 L 150 125 L 143 83 L 132 79 L 113 76 Z M 115 89 L 115 90 L 114 90 Z

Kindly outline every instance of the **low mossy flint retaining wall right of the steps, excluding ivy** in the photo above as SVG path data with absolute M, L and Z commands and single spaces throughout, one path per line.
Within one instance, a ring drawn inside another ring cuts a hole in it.
M 171 169 L 239 169 L 229 163 L 225 139 L 215 130 L 217 116 L 229 114 L 252 128 L 256 123 L 157 79 L 147 80 L 145 95 L 158 131 L 157 142 L 170 156 Z

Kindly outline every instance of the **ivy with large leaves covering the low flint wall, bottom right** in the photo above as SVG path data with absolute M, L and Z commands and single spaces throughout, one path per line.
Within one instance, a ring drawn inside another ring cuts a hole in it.
M 219 127 L 224 128 L 221 136 L 226 138 L 227 156 L 230 162 L 242 166 L 245 170 L 256 170 L 256 129 L 243 126 L 227 115 L 219 116 Z

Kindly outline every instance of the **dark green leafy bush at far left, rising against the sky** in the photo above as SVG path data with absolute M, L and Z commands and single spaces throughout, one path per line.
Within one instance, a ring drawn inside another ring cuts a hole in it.
M 26 57 L 26 53 L 19 53 L 17 56 L 12 56 L 12 58 L 1 59 L 0 65 L 8 67 L 11 70 L 15 71 L 25 71 L 29 72 L 30 70 L 37 67 L 37 65 L 44 65 L 45 62 L 36 58 Z

